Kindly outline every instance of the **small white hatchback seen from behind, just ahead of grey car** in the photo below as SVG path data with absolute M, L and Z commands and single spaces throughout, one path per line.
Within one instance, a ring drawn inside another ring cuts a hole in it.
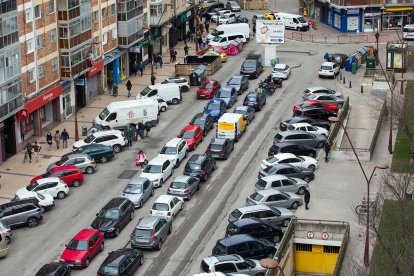
M 184 207 L 184 199 L 172 195 L 160 195 L 151 207 L 151 216 L 163 216 L 174 219 Z

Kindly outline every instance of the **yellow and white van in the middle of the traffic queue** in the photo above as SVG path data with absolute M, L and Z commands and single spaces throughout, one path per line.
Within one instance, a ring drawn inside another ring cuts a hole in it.
M 242 114 L 224 113 L 216 125 L 216 138 L 232 139 L 237 142 L 246 131 L 246 121 Z

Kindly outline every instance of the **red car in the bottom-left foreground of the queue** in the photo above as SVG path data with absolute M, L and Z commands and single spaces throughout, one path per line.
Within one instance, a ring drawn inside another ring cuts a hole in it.
M 82 229 L 65 245 L 60 261 L 69 266 L 88 267 L 93 257 L 104 249 L 104 236 L 96 229 Z

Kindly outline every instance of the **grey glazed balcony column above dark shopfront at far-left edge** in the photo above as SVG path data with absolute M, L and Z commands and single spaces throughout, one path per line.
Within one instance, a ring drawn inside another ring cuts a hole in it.
M 17 151 L 23 108 L 17 1 L 0 2 L 0 163 Z

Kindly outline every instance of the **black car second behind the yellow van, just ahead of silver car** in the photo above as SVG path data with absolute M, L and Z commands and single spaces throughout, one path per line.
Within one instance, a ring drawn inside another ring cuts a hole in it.
M 193 154 L 184 167 L 184 175 L 207 181 L 209 174 L 216 169 L 216 160 L 206 154 Z

